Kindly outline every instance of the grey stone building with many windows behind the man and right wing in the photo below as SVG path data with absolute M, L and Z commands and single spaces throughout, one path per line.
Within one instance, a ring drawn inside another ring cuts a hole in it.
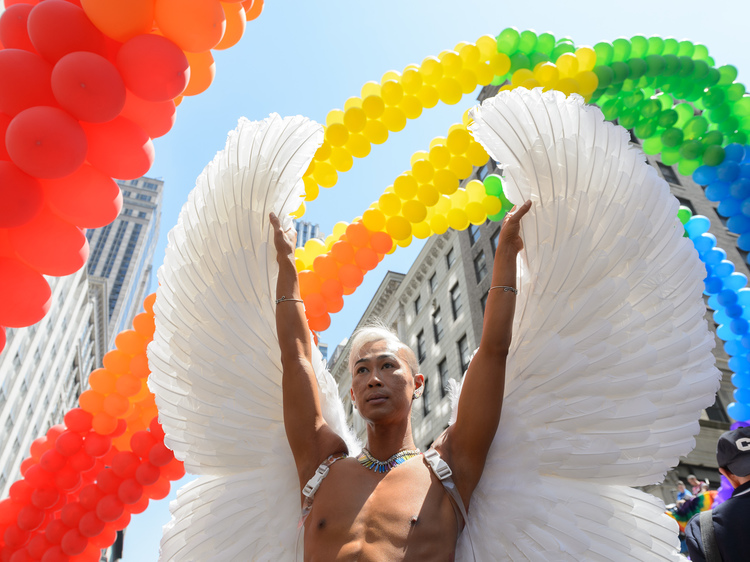
M 491 97 L 497 86 L 482 90 L 479 100 Z M 634 142 L 636 139 L 633 139 Z M 738 271 L 750 273 L 747 252 L 737 248 L 737 235 L 729 232 L 726 219 L 716 211 L 716 204 L 708 201 L 701 186 L 691 178 L 678 175 L 671 166 L 664 165 L 658 156 L 649 156 L 649 163 L 669 183 L 680 204 L 694 214 L 711 219 L 711 232 L 718 247 L 727 252 Z M 490 173 L 501 173 L 494 162 L 474 171 L 469 179 L 484 179 Z M 469 180 L 466 180 L 467 182 Z M 396 331 L 399 338 L 417 354 L 421 372 L 425 375 L 425 390 L 421 404 L 415 404 L 412 427 L 414 440 L 422 450 L 448 427 L 450 401 L 446 392 L 449 379 L 459 379 L 466 370 L 469 357 L 482 337 L 484 306 L 487 299 L 500 224 L 487 221 L 480 226 L 456 232 L 448 230 L 433 236 L 425 244 L 406 274 L 386 273 L 370 305 L 357 327 L 379 319 Z M 709 327 L 716 325 L 707 316 Z M 700 434 L 695 449 L 671 471 L 663 484 L 644 487 L 661 497 L 665 503 L 675 501 L 678 479 L 688 474 L 708 479 L 712 488 L 719 486 L 716 465 L 716 442 L 729 429 L 726 405 L 732 401 L 732 372 L 729 357 L 720 340 L 714 350 L 716 365 L 722 372 L 722 383 L 714 405 L 706 409 L 700 419 Z M 351 373 L 348 369 L 350 345 L 342 342 L 330 361 L 331 373 L 339 383 L 340 395 L 350 415 L 350 421 L 361 438 L 365 437 L 363 420 L 352 408 L 349 398 Z

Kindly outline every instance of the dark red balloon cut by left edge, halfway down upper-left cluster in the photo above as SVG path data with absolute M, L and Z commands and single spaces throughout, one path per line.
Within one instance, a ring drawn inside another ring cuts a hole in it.
M 0 161 L 0 228 L 29 222 L 42 209 L 44 192 L 36 178 L 12 162 Z

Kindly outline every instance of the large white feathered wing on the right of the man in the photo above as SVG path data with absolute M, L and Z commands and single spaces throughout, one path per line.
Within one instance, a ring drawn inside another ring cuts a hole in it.
M 678 203 L 579 96 L 501 92 L 473 118 L 508 198 L 533 201 L 502 419 L 469 516 L 479 559 L 679 559 L 664 506 L 630 488 L 694 447 L 720 380 Z

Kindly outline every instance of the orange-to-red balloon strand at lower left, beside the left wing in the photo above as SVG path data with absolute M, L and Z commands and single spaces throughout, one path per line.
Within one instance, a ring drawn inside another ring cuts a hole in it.
M 23 478 L 0 502 L 0 561 L 99 560 L 130 516 L 166 497 L 170 481 L 185 474 L 164 445 L 146 387 L 154 299 L 146 299 L 135 329 L 117 336 L 105 369 L 91 373 L 81 407 L 31 445 Z

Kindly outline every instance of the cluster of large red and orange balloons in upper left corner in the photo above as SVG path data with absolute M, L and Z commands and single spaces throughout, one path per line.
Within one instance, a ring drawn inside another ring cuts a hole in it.
M 0 326 L 41 320 L 145 174 L 183 95 L 263 0 L 6 0 L 0 16 Z M 4 343 L 4 331 L 0 350 Z

